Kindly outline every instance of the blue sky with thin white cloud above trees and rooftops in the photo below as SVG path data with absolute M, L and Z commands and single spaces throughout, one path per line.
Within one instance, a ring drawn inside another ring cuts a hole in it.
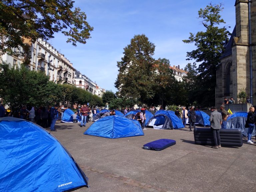
M 75 0 L 74 7 L 80 7 L 94 27 L 91 38 L 77 47 L 67 44 L 62 34 L 55 34 L 48 42 L 82 74 L 101 88 L 115 92 L 116 64 L 134 35 L 145 34 L 155 44 L 155 59 L 166 58 L 171 66 L 184 68 L 188 63 L 186 52 L 195 47 L 182 40 L 188 39 L 190 32 L 205 31 L 198 10 L 210 2 L 223 4 L 220 14 L 232 32 L 235 0 Z

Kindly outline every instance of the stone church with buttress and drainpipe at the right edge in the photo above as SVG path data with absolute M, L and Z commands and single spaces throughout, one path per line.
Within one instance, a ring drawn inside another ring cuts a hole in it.
M 236 26 L 217 69 L 215 104 L 237 95 L 244 88 L 256 104 L 256 0 L 236 0 Z

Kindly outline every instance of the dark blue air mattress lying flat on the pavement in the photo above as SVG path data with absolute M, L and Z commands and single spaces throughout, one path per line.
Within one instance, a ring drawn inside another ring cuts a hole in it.
M 158 139 L 143 145 L 143 149 L 161 151 L 175 144 L 176 144 L 176 141 L 172 139 Z

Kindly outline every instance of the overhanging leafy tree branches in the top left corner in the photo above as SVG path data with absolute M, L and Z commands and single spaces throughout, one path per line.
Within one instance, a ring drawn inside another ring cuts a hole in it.
M 23 38 L 48 40 L 56 32 L 62 32 L 74 46 L 77 42 L 86 43 L 93 27 L 80 8 L 73 8 L 73 3 L 72 0 L 1 0 L 0 49 L 12 55 L 12 48 L 25 48 Z

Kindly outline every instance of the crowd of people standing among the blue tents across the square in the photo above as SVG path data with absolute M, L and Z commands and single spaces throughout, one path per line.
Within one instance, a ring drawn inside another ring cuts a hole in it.
M 220 145 L 220 135 L 219 130 L 226 129 L 227 128 L 227 118 L 230 115 L 226 110 L 225 106 L 228 104 L 234 104 L 234 99 L 231 98 L 224 98 L 223 104 L 220 106 L 220 113 L 217 111 L 216 107 L 211 107 L 211 115 L 210 115 L 210 127 L 212 131 L 212 136 L 214 140 L 214 146 L 213 148 L 218 149 L 221 148 Z M 14 113 L 7 112 L 7 110 L 4 108 L 4 106 L 0 103 L 0 117 L 4 116 L 12 116 L 17 117 L 20 119 L 29 120 L 31 122 L 34 122 L 38 125 L 40 125 L 43 128 L 50 127 L 50 131 L 56 131 L 54 128 L 54 125 L 56 121 L 62 121 L 64 111 L 68 109 L 67 107 L 64 107 L 64 105 L 58 106 L 49 106 L 49 107 L 30 107 L 27 109 L 26 106 L 22 106 L 20 110 L 15 111 Z M 119 110 L 119 109 L 116 109 Z M 125 115 L 129 111 L 134 111 L 134 107 L 122 107 L 121 112 Z M 145 128 L 145 120 L 146 120 L 146 110 L 148 108 L 146 106 L 143 106 L 140 112 L 137 112 L 133 119 L 139 121 L 141 124 L 142 129 Z M 247 121 L 246 121 L 246 127 L 248 127 L 248 141 L 247 143 L 253 144 L 251 140 L 251 135 L 255 127 L 256 123 L 256 114 L 254 113 L 255 108 L 253 106 L 250 107 Z M 156 112 L 156 108 L 154 106 L 149 107 L 149 111 L 154 115 Z M 175 115 L 178 118 L 181 118 L 184 127 L 186 127 L 187 122 L 189 122 L 189 130 L 193 131 L 192 128 L 196 128 L 195 122 L 196 122 L 196 113 L 194 107 L 190 107 L 189 110 L 186 109 L 186 107 L 182 107 L 182 110 L 180 112 L 179 108 L 176 108 L 174 111 Z M 82 105 L 81 108 L 76 107 L 75 113 L 72 115 L 73 122 L 77 122 L 77 116 L 81 118 L 81 124 L 80 127 L 85 127 L 86 123 L 88 121 L 92 121 L 93 118 L 96 116 L 97 110 L 96 108 L 91 109 L 86 104 Z M 108 115 L 115 115 L 115 110 L 110 110 Z

